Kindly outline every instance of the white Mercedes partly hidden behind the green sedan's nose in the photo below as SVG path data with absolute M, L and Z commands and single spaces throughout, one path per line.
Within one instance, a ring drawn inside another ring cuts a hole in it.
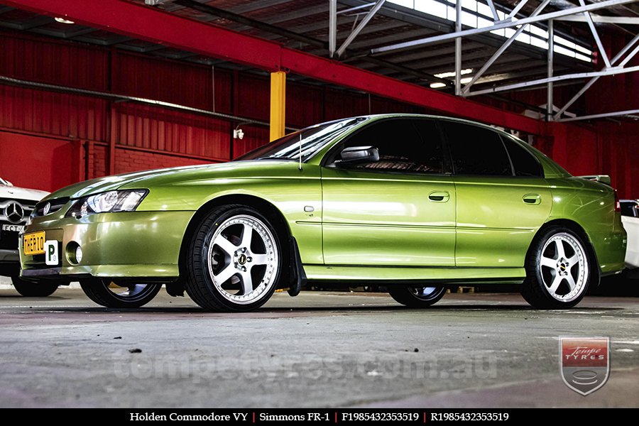
M 35 204 L 48 192 L 14 187 L 0 178 L 0 275 L 11 277 L 13 287 L 23 296 L 48 296 L 60 283 L 30 283 L 18 277 L 18 233 L 22 231 Z

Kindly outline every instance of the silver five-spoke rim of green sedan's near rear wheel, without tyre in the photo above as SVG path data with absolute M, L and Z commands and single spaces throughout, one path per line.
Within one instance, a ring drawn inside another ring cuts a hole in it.
M 544 244 L 540 275 L 548 294 L 560 302 L 572 302 L 583 293 L 588 281 L 588 258 L 581 243 L 559 232 Z

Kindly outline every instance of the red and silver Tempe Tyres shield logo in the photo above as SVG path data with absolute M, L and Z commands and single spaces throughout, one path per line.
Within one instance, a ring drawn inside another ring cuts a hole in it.
M 601 388 L 610 373 L 608 337 L 560 337 L 559 373 L 566 386 L 581 395 Z

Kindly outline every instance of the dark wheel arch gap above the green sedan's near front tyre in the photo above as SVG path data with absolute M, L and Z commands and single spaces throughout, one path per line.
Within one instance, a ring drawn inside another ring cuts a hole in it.
M 280 244 L 282 244 L 282 250 L 286 257 L 288 258 L 288 240 L 290 238 L 291 231 L 284 214 L 275 207 L 275 205 L 268 200 L 264 200 L 261 197 L 257 197 L 256 195 L 246 195 L 246 194 L 229 194 L 222 195 L 220 197 L 215 197 L 212 200 L 202 204 L 202 206 L 197 209 L 193 217 L 191 218 L 187 229 L 182 236 L 182 245 L 180 246 L 180 258 L 178 259 L 178 264 L 180 268 L 180 277 L 185 275 L 185 261 L 188 251 L 188 245 L 197 230 L 197 226 L 202 222 L 204 217 L 207 217 L 207 214 L 212 212 L 213 209 L 224 206 L 226 204 L 242 204 L 249 207 L 253 207 L 264 214 L 268 219 L 272 220 L 272 225 L 275 227 L 275 231 L 278 233 L 278 237 L 280 239 Z M 283 268 L 283 271 L 286 271 L 288 268 Z

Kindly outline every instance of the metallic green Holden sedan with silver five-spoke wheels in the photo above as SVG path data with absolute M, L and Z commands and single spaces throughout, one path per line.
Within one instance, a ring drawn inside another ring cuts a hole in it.
M 410 307 L 452 285 L 518 283 L 534 307 L 572 307 L 625 252 L 611 187 L 490 126 L 398 114 L 65 187 L 20 241 L 23 279 L 78 280 L 107 307 L 139 307 L 165 284 L 225 311 L 328 281 L 384 285 Z

